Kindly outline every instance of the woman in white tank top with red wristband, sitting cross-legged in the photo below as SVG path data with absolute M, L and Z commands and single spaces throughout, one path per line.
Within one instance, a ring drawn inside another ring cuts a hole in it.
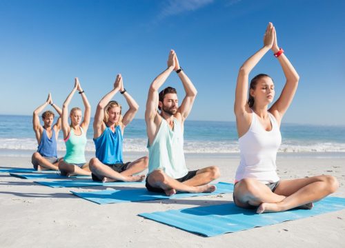
M 286 84 L 279 99 L 275 96 L 273 80 L 259 74 L 250 81 L 248 76 L 269 50 L 273 50 L 284 74 Z M 311 208 L 313 202 L 337 190 L 333 176 L 313 176 L 279 180 L 275 158 L 282 136 L 279 131 L 282 117 L 297 90 L 299 76 L 277 45 L 272 23 L 264 34 L 264 47 L 251 56 L 239 70 L 235 96 L 235 116 L 239 136 L 241 162 L 235 176 L 234 202 L 239 207 L 257 207 L 257 213 L 285 211 L 295 207 Z M 247 100 L 247 94 L 249 99 Z M 268 105 L 273 105 L 268 109 Z

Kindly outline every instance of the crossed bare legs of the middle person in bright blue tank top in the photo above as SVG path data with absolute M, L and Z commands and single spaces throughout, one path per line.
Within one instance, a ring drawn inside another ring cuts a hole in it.
M 121 173 L 115 172 L 115 170 L 110 168 L 108 165 L 104 165 L 98 158 L 91 158 L 89 166 L 93 174 L 99 176 L 99 178 L 103 178 L 103 183 L 114 182 L 117 180 L 124 182 L 137 182 L 144 180 L 145 175 L 133 175 L 144 171 L 148 167 L 148 157 L 144 156 L 131 162 L 127 169 Z

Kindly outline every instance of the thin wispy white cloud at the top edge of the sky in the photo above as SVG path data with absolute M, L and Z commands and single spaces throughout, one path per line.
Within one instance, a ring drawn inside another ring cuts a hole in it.
M 169 0 L 159 17 L 169 17 L 187 11 L 195 11 L 202 8 L 213 0 Z

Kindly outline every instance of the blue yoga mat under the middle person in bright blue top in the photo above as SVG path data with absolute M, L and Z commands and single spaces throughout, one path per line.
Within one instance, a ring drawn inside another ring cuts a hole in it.
M 56 181 L 34 181 L 34 183 L 39 183 L 41 185 L 46 185 L 48 187 L 93 187 L 93 186 L 124 186 L 132 184 L 143 184 L 144 182 L 112 182 L 112 183 L 102 183 L 93 181 L 92 179 L 86 180 L 56 180 Z

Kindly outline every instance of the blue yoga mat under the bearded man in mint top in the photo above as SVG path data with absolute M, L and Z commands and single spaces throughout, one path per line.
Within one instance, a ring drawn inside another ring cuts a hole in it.
M 191 196 L 208 196 L 215 194 L 232 193 L 234 185 L 232 183 L 217 183 L 217 190 L 212 193 L 178 193 L 172 196 L 166 196 L 164 193 L 148 192 L 146 188 L 138 189 L 124 189 L 124 190 L 100 190 L 97 192 L 72 192 L 85 200 L 90 200 L 93 203 L 108 204 L 108 203 L 128 203 L 138 202 L 144 200 L 158 200 L 158 199 L 175 199 L 185 198 Z

